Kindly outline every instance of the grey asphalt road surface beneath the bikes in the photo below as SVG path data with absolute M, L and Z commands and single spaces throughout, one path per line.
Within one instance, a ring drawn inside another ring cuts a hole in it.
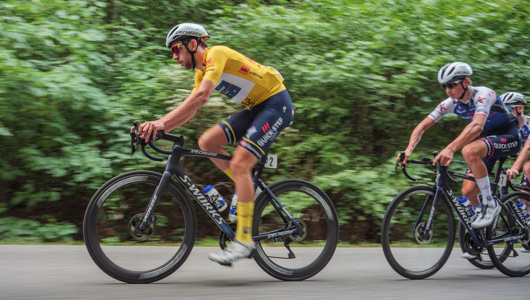
M 454 249 L 434 276 L 409 280 L 381 248 L 339 248 L 318 275 L 284 282 L 252 260 L 234 268 L 209 261 L 217 248 L 193 248 L 183 266 L 157 283 L 131 285 L 103 273 L 84 246 L 0 245 L 0 299 L 527 299 L 530 278 L 480 270 Z

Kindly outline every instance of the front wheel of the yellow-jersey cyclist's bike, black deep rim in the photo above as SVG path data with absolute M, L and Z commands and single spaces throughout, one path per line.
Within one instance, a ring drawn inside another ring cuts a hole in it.
M 173 180 L 159 198 L 148 230 L 139 232 L 134 226 L 161 178 L 151 171 L 120 174 L 103 184 L 86 208 L 83 235 L 90 257 L 102 271 L 125 283 L 152 283 L 169 276 L 195 243 L 195 208 Z

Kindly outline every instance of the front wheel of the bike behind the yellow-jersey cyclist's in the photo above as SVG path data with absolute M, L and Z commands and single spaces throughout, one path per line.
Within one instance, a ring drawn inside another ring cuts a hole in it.
M 455 219 L 453 210 L 445 199 L 440 199 L 438 202 L 429 234 L 424 236 L 419 233 L 421 231 L 419 228 L 424 226 L 422 224 L 429 217 L 434 196 L 435 189 L 431 187 L 408 188 L 392 200 L 383 218 L 381 226 L 383 253 L 394 271 L 405 278 L 423 279 L 432 276 L 444 266 L 451 255 L 455 242 Z M 426 201 L 430 204 L 418 221 L 419 226 L 414 228 L 419 211 Z M 427 246 L 428 244 L 435 247 Z M 438 245 L 443 246 L 443 251 L 437 247 Z

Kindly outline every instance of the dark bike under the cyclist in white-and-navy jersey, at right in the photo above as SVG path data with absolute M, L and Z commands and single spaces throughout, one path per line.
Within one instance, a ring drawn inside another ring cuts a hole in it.
M 434 156 L 438 154 L 433 153 Z M 404 158 L 404 153 L 401 155 Z M 396 163 L 398 167 L 400 161 Z M 432 165 L 432 159 L 419 158 L 409 160 L 412 164 Z M 504 162 L 504 160 L 502 161 Z M 509 181 L 502 180 L 502 163 L 498 167 L 496 182 L 501 193 L 506 192 Z M 401 276 L 409 279 L 422 279 L 434 275 L 449 258 L 455 242 L 454 213 L 460 219 L 459 231 L 462 250 L 479 255 L 470 260 L 482 268 L 497 267 L 508 276 L 524 276 L 530 272 L 530 253 L 518 253 L 519 247 L 528 247 L 530 230 L 520 215 L 516 202 L 518 199 L 530 199 L 530 195 L 517 191 L 498 200 L 502 210 L 491 226 L 482 229 L 471 227 L 474 216 L 458 204 L 457 197 L 449 186 L 458 183 L 452 177 L 474 180 L 465 174 L 448 171 L 447 167 L 437 167 L 434 187 L 414 186 L 401 192 L 392 200 L 383 218 L 381 244 L 390 266 Z M 415 181 L 406 171 L 403 173 Z M 504 179 L 506 175 L 504 174 Z M 483 259 L 488 251 L 489 261 Z

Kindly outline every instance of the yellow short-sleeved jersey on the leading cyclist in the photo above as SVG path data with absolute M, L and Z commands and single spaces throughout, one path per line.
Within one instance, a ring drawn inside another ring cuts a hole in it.
M 215 90 L 248 109 L 285 90 L 284 78 L 275 68 L 258 64 L 225 46 L 206 49 L 202 70 L 195 72 L 192 93 L 203 79 L 210 80 Z

